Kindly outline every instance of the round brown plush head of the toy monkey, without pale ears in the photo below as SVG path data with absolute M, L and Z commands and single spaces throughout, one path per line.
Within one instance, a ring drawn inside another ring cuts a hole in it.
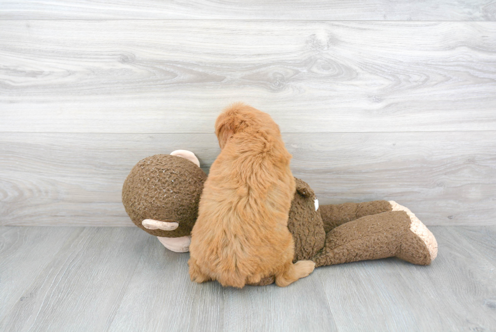
M 159 237 L 190 235 L 198 217 L 198 203 L 206 174 L 178 156 L 155 155 L 138 162 L 122 187 L 122 203 L 133 223 Z M 173 231 L 148 230 L 143 219 L 177 222 Z

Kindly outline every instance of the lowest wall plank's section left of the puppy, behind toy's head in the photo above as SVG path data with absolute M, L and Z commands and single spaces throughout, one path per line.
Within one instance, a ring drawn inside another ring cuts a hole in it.
M 215 135 L 202 134 L 0 136 L 2 225 L 132 226 L 121 189 L 140 159 L 187 149 L 208 171 L 219 151 Z

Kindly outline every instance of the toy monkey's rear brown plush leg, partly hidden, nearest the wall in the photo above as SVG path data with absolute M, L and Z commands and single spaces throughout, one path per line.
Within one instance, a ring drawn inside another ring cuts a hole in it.
M 335 227 L 365 215 L 391 211 L 391 204 L 388 201 L 330 204 L 321 206 L 319 210 L 327 233 Z

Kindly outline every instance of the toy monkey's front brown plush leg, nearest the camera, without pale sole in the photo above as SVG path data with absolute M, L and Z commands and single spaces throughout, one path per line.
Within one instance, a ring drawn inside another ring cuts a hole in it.
M 410 231 L 404 211 L 367 215 L 334 228 L 313 261 L 316 267 L 397 256 L 407 262 L 429 265 L 431 258 L 420 237 Z

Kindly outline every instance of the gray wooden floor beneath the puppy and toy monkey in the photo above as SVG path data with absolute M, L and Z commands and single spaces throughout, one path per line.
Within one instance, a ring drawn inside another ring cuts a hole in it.
M 316 269 L 279 288 L 189 280 L 134 227 L 0 227 L 1 331 L 494 331 L 496 227 L 431 227 L 431 266 Z

